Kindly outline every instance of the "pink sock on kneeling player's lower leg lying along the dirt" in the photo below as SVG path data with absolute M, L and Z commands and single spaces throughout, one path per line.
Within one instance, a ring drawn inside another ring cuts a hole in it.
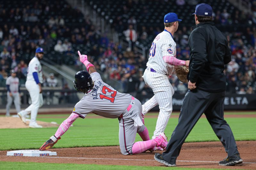
M 135 142 L 132 146 L 132 153 L 137 154 L 144 151 L 147 151 L 149 148 L 153 148 L 157 145 L 157 142 L 154 140 L 148 140 L 148 141 L 140 141 Z

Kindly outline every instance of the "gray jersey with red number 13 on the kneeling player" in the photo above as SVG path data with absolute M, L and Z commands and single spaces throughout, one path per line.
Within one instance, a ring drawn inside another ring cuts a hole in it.
M 76 103 L 73 113 L 82 118 L 89 113 L 107 118 L 118 118 L 129 106 L 132 96 L 117 92 L 104 83 L 98 72 L 93 72 L 91 77 L 94 81 L 93 89 Z

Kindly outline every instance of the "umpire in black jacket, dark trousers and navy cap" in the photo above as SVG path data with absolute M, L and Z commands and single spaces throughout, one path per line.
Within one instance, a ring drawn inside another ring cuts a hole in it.
M 233 133 L 224 120 L 226 79 L 224 64 L 231 61 L 226 37 L 212 23 L 212 7 L 196 5 L 196 28 L 189 36 L 190 63 L 188 92 L 180 111 L 179 123 L 163 154 L 156 153 L 156 161 L 166 166 L 176 166 L 176 159 L 188 134 L 198 119 L 205 114 L 213 131 L 223 144 L 228 157 L 221 166 L 240 164 Z

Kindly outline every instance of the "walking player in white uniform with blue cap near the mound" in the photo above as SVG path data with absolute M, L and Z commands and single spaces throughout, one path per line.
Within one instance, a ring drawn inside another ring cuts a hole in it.
M 43 73 L 40 60 L 44 56 L 43 48 L 36 48 L 35 57 L 28 64 L 27 81 L 25 83 L 26 89 L 29 92 L 32 104 L 25 110 L 21 110 L 18 115 L 22 122 L 26 123 L 26 115 L 31 112 L 29 127 L 42 128 L 36 123 L 36 116 L 39 107 L 44 103 L 42 95 L 41 83 L 43 83 Z

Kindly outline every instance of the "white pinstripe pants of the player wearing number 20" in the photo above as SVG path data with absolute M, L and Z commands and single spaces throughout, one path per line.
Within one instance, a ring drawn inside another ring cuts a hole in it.
M 142 105 L 142 114 L 145 115 L 148 111 L 159 105 L 159 115 L 156 122 L 156 130 L 152 139 L 156 138 L 160 133 L 164 132 L 169 118 L 172 113 L 172 95 L 174 89 L 168 80 L 168 76 L 151 72 L 148 68 L 143 74 L 144 81 L 154 92 L 154 96 Z

